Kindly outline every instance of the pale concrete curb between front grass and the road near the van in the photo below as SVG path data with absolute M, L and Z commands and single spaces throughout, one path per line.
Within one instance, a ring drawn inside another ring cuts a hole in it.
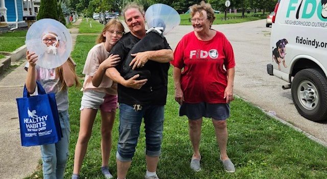
M 313 140 L 314 142 L 317 142 L 318 144 L 320 144 L 320 145 L 322 145 L 322 146 L 324 146 L 324 147 L 327 147 L 327 143 L 326 143 L 326 142 L 324 142 L 324 141 L 322 141 L 322 140 L 320 140 L 320 139 L 318 139 L 318 138 L 312 136 L 310 133 L 308 133 L 308 132 L 306 132 L 306 131 L 304 131 L 304 130 L 302 130 L 302 129 L 300 129 L 300 128 L 294 126 L 294 125 L 292 125 L 291 123 L 289 123 L 289 122 L 287 122 L 287 121 L 285 121 L 285 120 L 283 120 L 283 119 L 281 119 L 281 118 L 278 118 L 278 117 L 275 116 L 275 115 L 272 115 L 272 114 L 268 113 L 265 109 L 263 109 L 263 108 L 261 108 L 261 107 L 259 107 L 259 106 L 254 105 L 254 104 L 251 103 L 250 101 L 248 101 L 248 100 L 246 100 L 246 99 L 244 99 L 244 98 L 242 98 L 242 97 L 240 97 L 240 96 L 238 96 L 238 95 L 235 95 L 235 94 L 234 94 L 234 96 L 236 96 L 236 97 L 238 97 L 238 98 L 240 98 L 240 99 L 242 99 L 242 100 L 244 100 L 244 101 L 250 103 L 251 105 L 253 105 L 253 106 L 255 106 L 255 107 L 258 107 L 258 108 L 259 108 L 261 111 L 263 111 L 263 113 L 265 113 L 266 115 L 268 115 L 268 116 L 272 117 L 273 119 L 275 119 L 275 120 L 281 122 L 282 124 L 285 124 L 285 125 L 287 125 L 287 126 L 293 128 L 294 130 L 296 130 L 296 131 L 298 131 L 298 132 L 303 133 L 303 135 L 307 136 L 307 138 Z

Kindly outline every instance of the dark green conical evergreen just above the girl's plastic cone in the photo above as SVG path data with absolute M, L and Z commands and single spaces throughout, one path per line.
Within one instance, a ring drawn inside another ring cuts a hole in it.
M 41 0 L 40 10 L 36 18 L 38 20 L 42 18 L 52 18 L 58 20 L 57 1 Z

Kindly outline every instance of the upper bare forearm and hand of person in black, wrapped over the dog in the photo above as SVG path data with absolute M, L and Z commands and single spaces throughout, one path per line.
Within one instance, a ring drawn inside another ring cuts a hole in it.
M 133 70 L 143 66 L 148 60 L 153 60 L 159 63 L 167 63 L 174 59 L 174 53 L 171 49 L 138 52 L 136 54 L 131 55 L 134 56 L 134 59 L 129 65 L 133 65 Z

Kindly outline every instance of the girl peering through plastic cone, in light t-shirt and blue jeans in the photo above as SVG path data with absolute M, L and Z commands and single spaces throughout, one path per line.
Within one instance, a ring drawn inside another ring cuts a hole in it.
M 49 32 L 44 34 L 42 42 L 47 47 L 58 47 L 60 40 L 57 34 Z M 63 137 L 55 144 L 41 145 L 43 163 L 43 178 L 60 178 L 64 176 L 65 166 L 68 159 L 68 144 L 71 129 L 68 116 L 68 87 L 79 85 L 75 73 L 75 63 L 68 58 L 65 63 L 55 69 L 45 69 L 36 65 L 38 56 L 34 52 L 27 51 L 28 63 L 25 69 L 28 71 L 26 88 L 29 94 L 37 94 L 36 81 L 44 88 L 46 93 L 55 93 L 60 127 Z

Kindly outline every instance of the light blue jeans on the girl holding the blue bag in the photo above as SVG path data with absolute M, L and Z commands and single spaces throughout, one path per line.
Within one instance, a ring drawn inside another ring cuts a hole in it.
M 68 110 L 59 113 L 59 120 L 63 138 L 55 144 L 41 145 L 44 179 L 61 179 L 64 175 L 71 132 Z

